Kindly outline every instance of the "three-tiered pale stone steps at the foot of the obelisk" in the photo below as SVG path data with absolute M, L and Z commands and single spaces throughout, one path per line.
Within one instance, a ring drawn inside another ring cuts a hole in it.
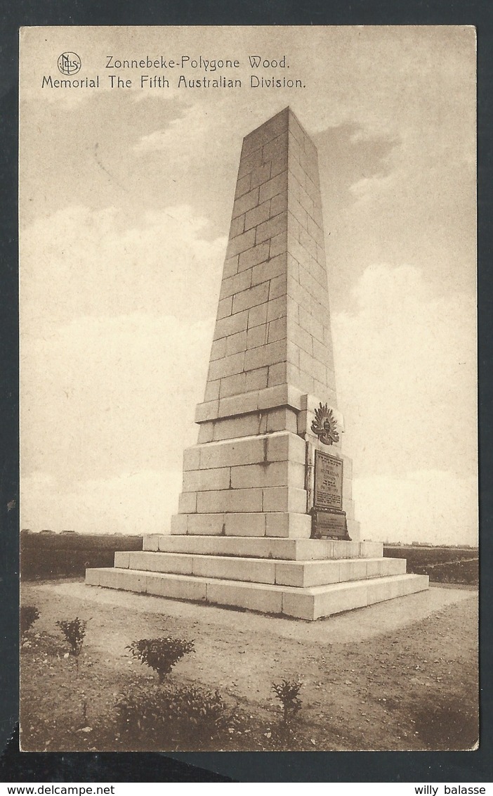
M 378 542 L 154 535 L 144 548 L 86 583 L 309 621 L 428 588 Z

